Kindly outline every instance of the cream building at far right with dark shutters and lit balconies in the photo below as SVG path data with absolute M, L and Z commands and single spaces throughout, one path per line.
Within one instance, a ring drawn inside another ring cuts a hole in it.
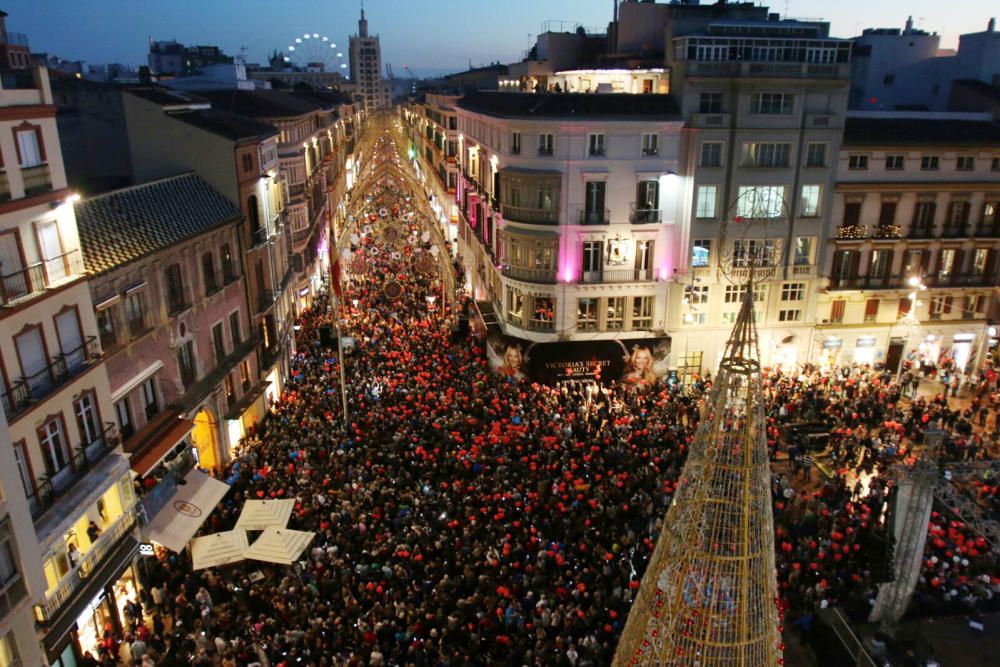
M 978 368 L 996 341 L 1000 125 L 852 114 L 832 208 L 810 358 Z

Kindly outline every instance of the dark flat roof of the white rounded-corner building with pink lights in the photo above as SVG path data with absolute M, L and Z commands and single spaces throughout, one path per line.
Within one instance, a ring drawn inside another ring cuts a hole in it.
M 680 109 L 672 95 L 624 93 L 497 93 L 479 91 L 458 101 L 467 111 L 508 118 L 679 120 Z

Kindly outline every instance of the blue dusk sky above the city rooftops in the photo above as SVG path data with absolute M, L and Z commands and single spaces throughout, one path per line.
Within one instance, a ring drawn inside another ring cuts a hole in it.
M 915 23 L 942 35 L 942 46 L 958 35 L 979 32 L 995 0 L 779 0 L 768 3 L 790 17 L 824 18 L 838 37 L 864 27 Z M 383 61 L 402 75 L 464 69 L 499 60 L 520 60 L 543 22 L 560 19 L 604 28 L 608 0 L 368 0 L 370 30 L 382 42 Z M 89 63 L 145 64 L 147 38 L 185 44 L 216 44 L 229 54 L 247 47 L 250 62 L 264 62 L 296 36 L 316 33 L 346 47 L 357 31 L 356 0 L 5 0 L 8 28 L 28 33 L 32 51 Z M 343 49 L 347 57 L 347 49 Z

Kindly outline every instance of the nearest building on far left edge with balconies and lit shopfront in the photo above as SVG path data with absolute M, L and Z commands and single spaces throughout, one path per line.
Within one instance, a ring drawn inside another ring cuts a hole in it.
M 11 443 L 4 456 L 12 459 L 2 484 L 7 511 L 16 516 L 23 502 L 30 517 L 13 537 L 32 555 L 22 560 L 30 567 L 23 581 L 38 636 L 15 634 L 14 641 L 20 655 L 34 656 L 29 644 L 41 639 L 50 663 L 75 664 L 105 622 L 120 627 L 114 605 L 125 599 L 116 592 L 134 595 L 135 498 L 48 75 L 44 68 L 24 74 L 4 76 L 0 91 L 0 371 Z M 14 625 L 28 627 L 23 619 Z

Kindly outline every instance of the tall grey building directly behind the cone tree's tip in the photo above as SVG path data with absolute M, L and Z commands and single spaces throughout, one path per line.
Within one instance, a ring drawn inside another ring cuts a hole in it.
M 667 329 L 686 372 L 718 364 L 751 266 L 764 365 L 808 359 L 851 50 L 828 29 L 725 20 L 673 40 L 694 179 Z

